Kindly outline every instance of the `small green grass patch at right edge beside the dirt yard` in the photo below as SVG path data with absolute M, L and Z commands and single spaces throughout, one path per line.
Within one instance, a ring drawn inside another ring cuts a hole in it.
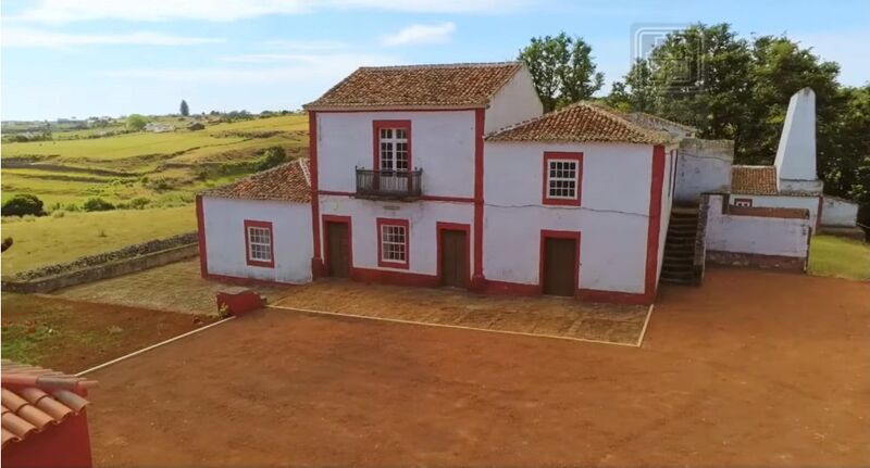
M 810 244 L 809 273 L 870 280 L 870 244 L 833 236 L 816 236 Z

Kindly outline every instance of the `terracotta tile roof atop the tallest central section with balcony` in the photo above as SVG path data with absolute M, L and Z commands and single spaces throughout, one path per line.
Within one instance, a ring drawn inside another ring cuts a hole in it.
M 522 66 L 521 62 L 363 66 L 303 107 L 482 107 Z

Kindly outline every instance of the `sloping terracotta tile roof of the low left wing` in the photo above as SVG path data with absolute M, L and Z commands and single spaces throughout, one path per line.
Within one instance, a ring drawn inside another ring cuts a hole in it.
M 203 197 L 243 200 L 311 202 L 311 176 L 308 157 L 257 173 L 234 184 L 202 192 Z

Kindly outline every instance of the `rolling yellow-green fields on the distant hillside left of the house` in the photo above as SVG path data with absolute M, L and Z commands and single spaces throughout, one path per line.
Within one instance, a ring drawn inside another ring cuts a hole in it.
M 187 121 L 160 118 L 183 127 Z M 190 203 L 194 193 L 233 181 L 270 147 L 290 157 L 307 154 L 308 118 L 290 114 L 217 123 L 204 130 L 135 132 L 82 138 L 95 130 L 60 131 L 52 141 L 2 144 L 2 199 L 39 197 L 50 210 L 91 197 L 112 203 L 147 198 L 151 206 Z

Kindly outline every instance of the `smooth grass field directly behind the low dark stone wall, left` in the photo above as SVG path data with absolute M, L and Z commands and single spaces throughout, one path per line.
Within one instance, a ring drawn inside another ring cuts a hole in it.
M 153 210 L 64 213 L 63 217 L 5 218 L 3 237 L 14 244 L 3 252 L 2 273 L 12 275 L 83 255 L 111 251 L 197 228 L 192 205 Z

